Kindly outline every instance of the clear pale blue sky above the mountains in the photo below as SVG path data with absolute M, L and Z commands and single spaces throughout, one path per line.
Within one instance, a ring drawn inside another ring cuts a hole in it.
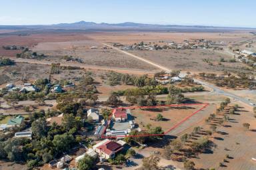
M 93 21 L 256 27 L 255 0 L 7 0 L 0 25 Z

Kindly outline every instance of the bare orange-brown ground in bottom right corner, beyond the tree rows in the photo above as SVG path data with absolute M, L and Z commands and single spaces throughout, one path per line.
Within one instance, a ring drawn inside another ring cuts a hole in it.
M 215 169 L 219 170 L 255 169 L 255 161 L 251 159 L 256 156 L 255 149 L 253 149 L 256 143 L 254 114 L 249 106 L 240 102 L 233 104 L 239 104 L 239 110 L 235 114 L 229 114 L 229 122 L 226 122 L 223 126 L 218 126 L 216 133 L 213 133 L 211 137 L 215 145 L 213 153 L 203 153 L 198 155 L 197 158 L 192 159 L 197 168 L 207 169 L 215 167 Z M 228 110 L 225 112 L 228 112 Z M 245 129 L 243 127 L 244 123 L 249 123 L 250 128 Z M 210 129 L 212 124 L 214 123 L 205 124 L 201 127 Z M 227 154 L 229 159 L 225 157 Z M 219 167 L 219 163 L 223 159 L 227 159 L 227 161 L 223 163 L 223 166 Z

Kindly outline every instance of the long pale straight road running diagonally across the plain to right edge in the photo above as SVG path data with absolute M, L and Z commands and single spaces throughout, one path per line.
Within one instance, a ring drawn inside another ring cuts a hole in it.
M 147 62 L 147 64 L 151 64 L 152 66 L 155 66 L 161 70 L 164 70 L 166 72 L 171 72 L 171 69 L 169 68 L 166 68 L 165 66 L 161 66 L 160 64 L 157 64 L 155 62 L 152 62 L 151 60 L 146 60 L 145 58 L 141 58 L 140 56 L 137 56 L 135 54 L 131 54 L 130 52 L 127 52 L 127 51 L 123 51 L 123 50 L 120 50 L 119 48 L 116 48 L 115 46 L 111 46 L 109 44 L 105 44 L 103 43 L 105 46 L 109 46 L 119 52 L 122 52 L 123 54 L 127 54 L 129 56 L 132 56 L 133 58 L 137 58 L 139 60 L 142 60 L 143 62 Z M 181 76 L 184 76 L 185 73 L 181 73 Z M 250 104 L 250 101 L 249 100 L 245 100 L 244 98 L 241 98 L 235 94 L 231 94 L 230 92 L 225 92 L 224 90 L 221 90 L 220 88 L 217 88 L 217 86 L 213 86 L 211 84 L 208 84 L 207 82 L 203 82 L 201 80 L 197 80 L 197 79 L 194 79 L 195 82 L 198 82 L 200 84 L 202 84 L 203 86 L 207 86 L 208 88 L 212 88 L 213 89 L 213 93 L 215 94 L 222 94 L 223 96 L 227 96 L 227 97 L 230 97 L 230 98 L 234 98 L 235 100 L 238 100 L 240 102 L 243 102 L 245 104 L 248 104 L 249 106 L 251 106 Z

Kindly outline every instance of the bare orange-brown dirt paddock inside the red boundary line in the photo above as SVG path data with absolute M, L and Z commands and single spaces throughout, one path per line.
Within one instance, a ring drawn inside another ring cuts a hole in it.
M 188 106 L 159 106 L 159 108 L 135 108 L 131 110 L 135 122 L 139 124 L 139 128 L 146 129 L 147 124 L 152 127 L 160 126 L 163 131 L 167 131 L 175 124 L 178 124 L 194 112 L 197 112 L 203 105 Z M 157 114 L 163 116 L 163 120 L 157 121 Z

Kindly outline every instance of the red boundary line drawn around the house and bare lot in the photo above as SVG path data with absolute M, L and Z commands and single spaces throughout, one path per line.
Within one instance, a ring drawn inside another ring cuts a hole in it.
M 169 105 L 161 105 L 161 106 L 131 106 L 131 107 L 123 107 L 123 108 L 117 108 L 117 109 L 135 109 L 135 108 L 163 108 L 163 107 L 180 107 L 180 106 L 197 106 L 197 105 L 203 105 L 199 110 L 193 112 L 192 114 L 190 114 L 189 116 L 187 116 L 186 118 L 184 118 L 183 120 L 181 120 L 181 122 L 178 122 L 177 124 L 175 124 L 174 126 L 172 126 L 170 129 L 168 129 L 167 131 L 165 131 L 162 134 L 145 134 L 145 135 L 117 135 L 117 136 L 106 136 L 106 135 L 101 135 L 102 138 L 114 138 L 116 139 L 117 137 L 147 137 L 147 136 L 163 136 L 166 135 L 167 133 L 169 133 L 170 131 L 172 131 L 173 129 L 177 128 L 178 126 L 180 126 L 181 124 L 183 124 L 184 122 L 186 122 L 187 120 L 189 120 L 189 118 L 191 118 L 192 116 L 194 116 L 195 114 L 197 114 L 198 112 L 200 112 L 201 110 L 203 110 L 204 108 L 206 108 L 207 106 L 209 106 L 208 103 L 203 103 L 203 104 L 169 104 Z M 106 128 L 109 126 L 109 123 L 107 124 Z

